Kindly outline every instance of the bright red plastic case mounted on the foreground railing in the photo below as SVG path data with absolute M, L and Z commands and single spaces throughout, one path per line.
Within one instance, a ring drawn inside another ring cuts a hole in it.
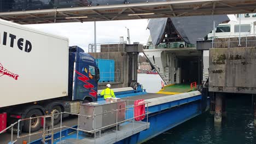
M 145 118 L 145 101 L 139 99 L 134 101 L 134 116 L 135 121 L 141 121 Z

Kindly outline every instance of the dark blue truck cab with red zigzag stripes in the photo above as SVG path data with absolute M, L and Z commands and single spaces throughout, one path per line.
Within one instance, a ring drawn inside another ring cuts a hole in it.
M 83 103 L 97 101 L 100 71 L 95 58 L 78 46 L 69 47 L 68 98 Z

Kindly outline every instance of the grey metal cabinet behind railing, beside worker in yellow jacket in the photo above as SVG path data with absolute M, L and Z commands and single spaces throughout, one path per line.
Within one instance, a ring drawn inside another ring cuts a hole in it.
M 121 99 L 81 104 L 79 129 L 90 131 L 102 127 L 115 127 L 113 124 L 125 120 L 125 106 L 126 101 Z

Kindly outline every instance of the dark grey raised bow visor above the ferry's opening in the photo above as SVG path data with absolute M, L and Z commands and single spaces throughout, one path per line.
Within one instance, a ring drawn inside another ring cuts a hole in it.
M 218 26 L 219 23 L 229 20 L 227 15 L 170 17 L 151 19 L 148 28 L 154 45 L 162 41 L 185 41 L 196 44 L 198 39 L 206 37 L 212 31 L 213 21 Z

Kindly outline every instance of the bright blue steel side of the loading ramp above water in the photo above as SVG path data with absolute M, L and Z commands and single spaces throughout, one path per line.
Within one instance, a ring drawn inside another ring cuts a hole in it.
M 202 97 L 202 95 L 197 95 L 188 99 L 149 107 L 149 111 L 153 112 L 148 117 L 148 122 L 150 123 L 149 129 L 117 143 L 143 143 L 191 118 L 199 116 L 201 113 L 208 110 L 210 102 L 206 99 L 206 107 L 203 108 Z

